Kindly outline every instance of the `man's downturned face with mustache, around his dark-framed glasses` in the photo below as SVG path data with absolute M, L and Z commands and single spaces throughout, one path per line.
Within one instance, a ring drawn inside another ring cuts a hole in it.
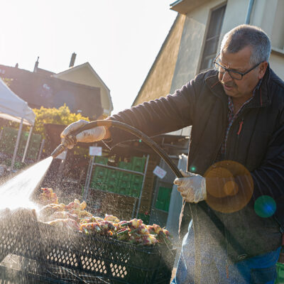
M 229 70 L 244 73 L 253 65 L 249 62 L 251 58 L 251 47 L 246 46 L 237 53 L 221 52 L 219 63 Z M 255 69 L 243 76 L 241 80 L 233 79 L 228 72 L 219 73 L 219 81 L 224 87 L 224 92 L 233 98 L 249 99 L 258 81 L 264 76 L 268 63 L 263 62 Z

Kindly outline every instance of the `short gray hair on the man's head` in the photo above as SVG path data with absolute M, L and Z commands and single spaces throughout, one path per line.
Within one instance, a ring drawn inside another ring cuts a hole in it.
M 224 35 L 221 52 L 237 53 L 246 46 L 251 46 L 251 64 L 268 61 L 271 55 L 271 40 L 257 26 L 240 25 Z

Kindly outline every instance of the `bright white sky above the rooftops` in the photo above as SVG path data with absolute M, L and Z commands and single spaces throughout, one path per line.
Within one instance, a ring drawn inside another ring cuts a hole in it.
M 114 111 L 131 107 L 178 13 L 174 0 L 9 0 L 1 5 L 0 64 L 33 71 L 90 65 Z

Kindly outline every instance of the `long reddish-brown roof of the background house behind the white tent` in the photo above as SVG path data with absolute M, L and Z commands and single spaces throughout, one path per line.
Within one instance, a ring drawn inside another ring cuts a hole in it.
M 30 72 L 16 67 L 0 65 L 1 77 L 11 79 L 10 88 L 30 107 L 61 107 L 66 104 L 70 111 L 82 111 L 83 116 L 97 119 L 102 115 L 99 87 L 89 87 L 60 80 L 41 72 Z

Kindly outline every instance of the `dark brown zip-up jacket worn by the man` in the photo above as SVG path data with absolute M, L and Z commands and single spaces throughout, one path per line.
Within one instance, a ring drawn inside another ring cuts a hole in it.
M 134 126 L 148 136 L 192 126 L 187 170 L 194 168 L 195 173 L 204 175 L 216 160 L 224 140 L 227 113 L 228 98 L 217 72 L 209 70 L 197 75 L 175 94 L 126 109 L 110 119 Z M 111 136 L 113 145 L 131 138 L 118 129 L 111 129 Z M 231 126 L 226 149 L 225 160 L 239 162 L 251 172 L 253 197 L 244 209 L 231 214 L 216 212 L 205 202 L 191 204 L 195 237 L 204 244 L 228 247 L 229 255 L 234 257 L 243 253 L 254 256 L 278 248 L 278 224 L 271 217 L 258 217 L 253 209 L 257 197 L 268 195 L 278 201 L 278 218 L 283 217 L 280 199 L 284 196 L 284 83 L 270 67 L 261 87 Z M 234 251 L 228 246 L 224 234 L 200 205 L 207 208 L 209 215 L 210 212 L 217 215 L 242 249 Z

